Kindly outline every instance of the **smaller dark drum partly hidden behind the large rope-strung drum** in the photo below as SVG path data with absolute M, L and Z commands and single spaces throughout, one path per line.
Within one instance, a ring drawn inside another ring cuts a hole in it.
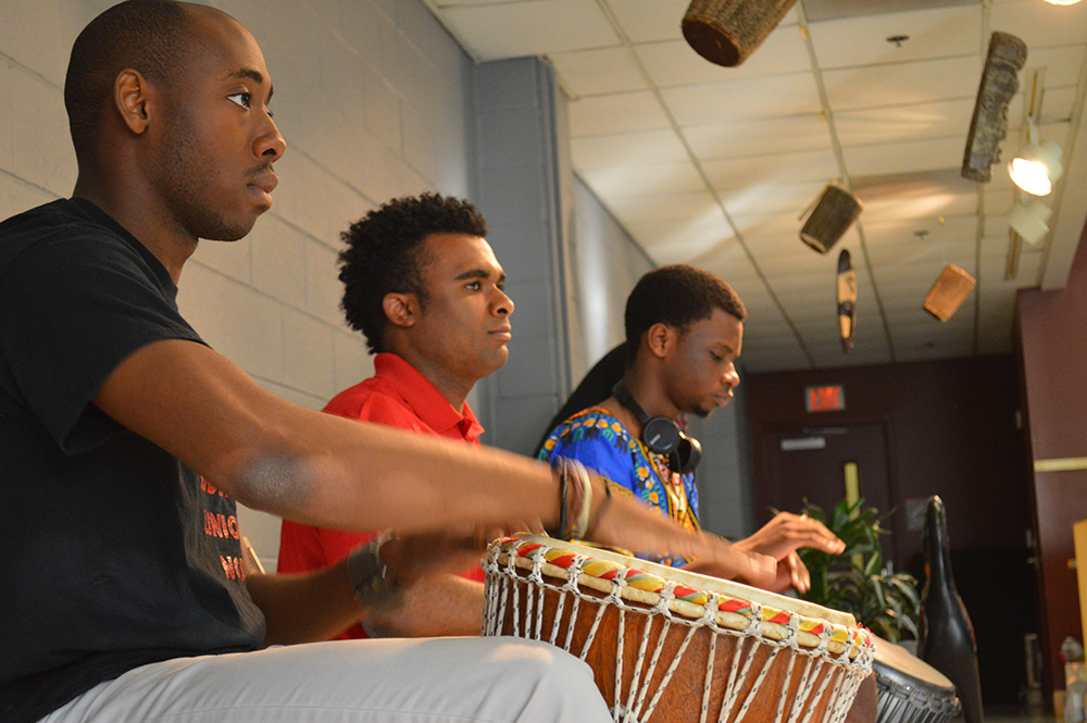
M 962 712 L 954 686 L 938 670 L 875 635 L 876 723 L 946 723 Z

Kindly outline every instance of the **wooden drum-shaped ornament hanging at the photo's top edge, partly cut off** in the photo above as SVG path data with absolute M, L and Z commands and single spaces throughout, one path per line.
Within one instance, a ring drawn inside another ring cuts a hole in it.
M 711 63 L 734 67 L 755 51 L 797 0 L 694 0 L 683 37 Z

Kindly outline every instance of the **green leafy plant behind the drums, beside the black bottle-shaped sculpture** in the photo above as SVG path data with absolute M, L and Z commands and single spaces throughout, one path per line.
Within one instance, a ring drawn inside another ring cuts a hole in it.
M 801 596 L 825 608 L 842 610 L 873 633 L 891 643 L 917 637 L 921 597 L 917 579 L 907 572 L 891 573 L 884 564 L 879 526 L 891 513 L 864 509 L 864 500 L 853 504 L 842 500 L 830 514 L 804 500 L 804 514 L 819 520 L 846 544 L 840 554 L 803 548 L 800 559 L 811 573 L 812 586 Z

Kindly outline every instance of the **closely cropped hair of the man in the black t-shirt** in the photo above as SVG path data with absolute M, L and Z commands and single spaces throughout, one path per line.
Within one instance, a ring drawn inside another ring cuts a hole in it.
M 188 11 L 174 0 L 127 0 L 102 12 L 72 46 L 64 108 L 76 158 L 95 148 L 99 123 L 121 71 L 170 83 L 189 46 Z

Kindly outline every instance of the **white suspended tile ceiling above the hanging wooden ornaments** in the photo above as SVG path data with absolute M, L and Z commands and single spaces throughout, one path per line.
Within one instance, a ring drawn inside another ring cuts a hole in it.
M 688 0 L 426 2 L 476 60 L 550 59 L 576 172 L 658 264 L 692 263 L 736 288 L 747 371 L 1009 352 L 1016 289 L 1067 276 L 1087 216 L 1087 2 L 799 0 L 733 68 L 684 41 Z M 977 184 L 959 169 L 994 30 L 1029 50 L 1002 161 Z M 1064 149 L 1065 176 L 1046 199 L 1050 234 L 1016 248 L 1005 163 L 1035 78 L 1041 137 Z M 799 240 L 800 216 L 835 178 L 864 211 L 820 255 Z M 842 248 L 859 289 L 849 354 Z M 941 323 L 921 304 L 948 263 L 977 286 Z

